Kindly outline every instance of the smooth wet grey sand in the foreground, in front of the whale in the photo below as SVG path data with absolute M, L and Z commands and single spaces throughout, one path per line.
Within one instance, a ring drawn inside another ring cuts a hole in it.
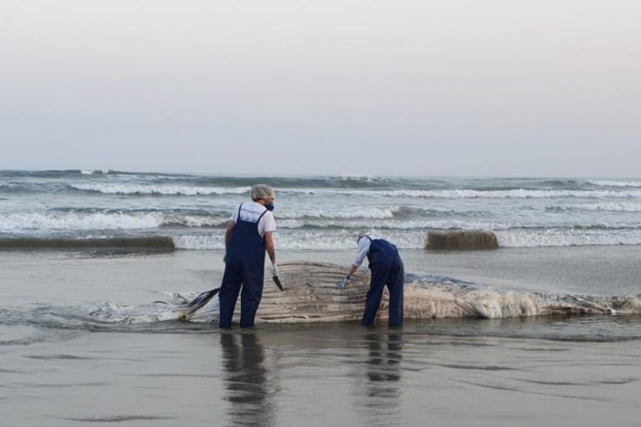
M 3 346 L 5 426 L 637 426 L 641 344 L 358 325 Z

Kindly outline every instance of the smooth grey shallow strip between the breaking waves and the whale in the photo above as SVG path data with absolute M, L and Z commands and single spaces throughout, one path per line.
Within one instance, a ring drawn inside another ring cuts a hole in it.
M 278 263 L 308 260 L 347 267 L 355 255 L 355 248 L 335 251 L 279 250 L 278 241 L 276 245 Z M 641 259 L 641 246 L 498 248 L 491 251 L 400 249 L 400 254 L 405 263 L 407 281 L 438 275 L 479 285 L 518 290 L 610 296 L 639 293 L 637 260 Z M 84 280 L 81 275 L 74 273 L 80 260 L 84 265 L 100 262 L 110 267 L 118 264 L 118 260 L 122 260 L 125 265 L 137 262 L 153 278 L 157 277 L 155 273 L 162 273 L 167 269 L 168 277 L 176 284 L 189 280 L 189 270 L 197 268 L 201 275 L 209 278 L 208 281 L 215 283 L 222 278 L 223 255 L 224 251 L 218 249 L 177 250 L 170 253 L 109 250 L 0 251 L 0 289 L 3 283 L 4 288 L 7 288 L 10 283 L 37 275 L 38 270 L 58 270 L 60 263 L 69 269 L 71 281 Z M 266 265 L 268 264 L 266 261 Z M 367 262 L 361 268 L 367 270 Z M 33 274 L 26 274 L 29 269 L 33 270 Z M 135 265 L 132 265 L 130 275 L 135 275 L 135 270 Z M 120 279 L 123 280 L 126 282 L 127 278 Z M 173 290 L 176 290 L 176 286 Z

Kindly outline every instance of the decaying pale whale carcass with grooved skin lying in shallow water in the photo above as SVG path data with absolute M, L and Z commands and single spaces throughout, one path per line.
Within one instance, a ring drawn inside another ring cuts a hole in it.
M 298 261 L 279 265 L 283 290 L 278 290 L 266 275 L 263 298 L 256 312 L 256 322 L 342 322 L 360 320 L 365 307 L 370 275 L 356 273 L 345 290 L 337 288 L 347 269 L 340 265 Z M 565 294 L 546 294 L 522 290 L 502 290 L 460 280 L 414 280 L 405 284 L 404 317 L 429 319 L 444 317 L 476 317 L 505 319 L 510 317 L 629 314 L 641 312 L 641 297 L 596 297 Z M 172 301 L 159 305 L 157 315 L 145 320 L 187 320 L 217 322 L 216 292 L 199 295 L 197 304 L 174 294 Z M 239 298 L 240 300 L 240 298 Z M 387 290 L 384 292 L 378 318 L 387 319 Z M 240 304 L 234 310 L 238 320 Z M 202 307 L 202 308 L 201 308 Z M 113 305 L 111 306 L 113 309 Z M 93 315 L 105 317 L 109 310 L 95 310 Z M 131 317 L 123 322 L 137 322 Z

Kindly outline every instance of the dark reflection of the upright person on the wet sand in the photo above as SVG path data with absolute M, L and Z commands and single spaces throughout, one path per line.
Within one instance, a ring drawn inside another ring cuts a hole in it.
M 223 332 L 220 337 L 230 426 L 274 426 L 273 394 L 265 354 L 254 332 Z

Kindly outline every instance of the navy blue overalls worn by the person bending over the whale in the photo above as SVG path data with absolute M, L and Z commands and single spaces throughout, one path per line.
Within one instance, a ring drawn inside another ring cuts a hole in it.
M 369 326 L 374 323 L 376 312 L 380 307 L 383 288 L 387 285 L 390 292 L 390 326 L 403 325 L 403 283 L 405 283 L 405 270 L 403 262 L 398 255 L 396 246 L 392 243 L 377 238 L 370 240 L 368 260 L 372 270 L 372 280 L 368 299 L 365 302 L 365 312 L 362 325 Z

